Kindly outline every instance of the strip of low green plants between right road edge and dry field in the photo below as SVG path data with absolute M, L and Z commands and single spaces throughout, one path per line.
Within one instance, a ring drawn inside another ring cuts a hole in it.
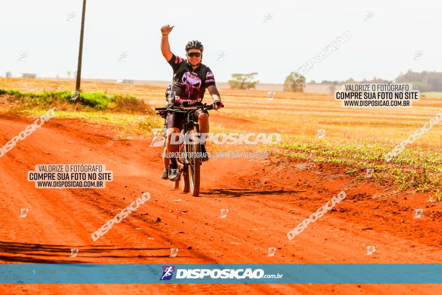
M 431 201 L 442 200 L 442 151 L 407 147 L 386 162 L 384 155 L 394 145 L 381 141 L 342 138 L 314 138 L 305 135 L 287 135 L 273 149 L 281 156 L 325 162 L 344 166 L 346 174 L 363 179 L 366 168 L 374 168 L 373 179 L 383 185 L 396 186 L 399 191 L 433 192 Z

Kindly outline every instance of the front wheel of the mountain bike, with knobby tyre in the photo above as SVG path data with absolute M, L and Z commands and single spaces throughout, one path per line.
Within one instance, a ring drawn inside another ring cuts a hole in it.
M 188 145 L 188 151 L 191 152 L 191 156 L 189 157 L 190 163 L 187 165 L 187 167 L 190 182 L 190 193 L 192 196 L 198 196 L 200 177 L 199 165 L 201 164 L 201 161 L 199 157 L 199 138 L 195 128 L 189 131 L 189 140 L 190 143 Z

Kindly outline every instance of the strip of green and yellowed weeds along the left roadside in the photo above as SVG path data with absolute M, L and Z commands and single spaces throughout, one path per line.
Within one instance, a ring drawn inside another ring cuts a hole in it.
M 154 113 L 149 105 L 132 95 L 109 96 L 102 92 L 80 92 L 76 100 L 71 100 L 69 91 L 33 93 L 1 88 L 0 95 L 6 96 L 8 103 L 12 104 L 12 108 L 8 109 L 10 113 L 40 116 L 56 107 L 58 118 L 85 119 L 114 125 L 120 131 L 127 129 L 128 125 L 134 125 L 126 132 L 127 135 L 151 135 L 152 128 L 161 128 L 163 124 L 159 116 L 152 116 Z

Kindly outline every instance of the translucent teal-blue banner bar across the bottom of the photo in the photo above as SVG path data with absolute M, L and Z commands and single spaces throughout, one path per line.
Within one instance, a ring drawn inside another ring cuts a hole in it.
M 1 263 L 0 283 L 442 283 L 442 264 Z

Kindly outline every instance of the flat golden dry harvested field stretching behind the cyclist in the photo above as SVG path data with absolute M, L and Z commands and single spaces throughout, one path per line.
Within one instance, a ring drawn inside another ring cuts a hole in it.
M 74 89 L 74 81 L 0 78 L 0 88 L 22 92 L 43 92 Z M 131 94 L 151 106 L 164 105 L 164 89 L 160 86 L 82 82 L 82 91 L 107 94 Z M 263 122 L 287 134 L 315 135 L 325 129 L 327 136 L 381 141 L 402 140 L 442 107 L 438 98 L 422 97 L 410 109 L 344 109 L 332 94 L 277 92 L 267 100 L 263 90 L 220 90 L 227 106 L 224 116 Z M 210 103 L 206 92 L 205 102 Z M 420 144 L 439 145 L 441 127 L 425 135 Z

